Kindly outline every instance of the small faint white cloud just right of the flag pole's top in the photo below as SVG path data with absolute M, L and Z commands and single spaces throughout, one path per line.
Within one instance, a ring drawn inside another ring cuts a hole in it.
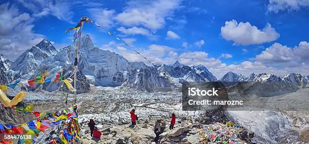
M 92 8 L 88 9 L 91 14 L 93 21 L 104 28 L 111 28 L 114 26 L 113 17 L 115 14 L 114 10 Z

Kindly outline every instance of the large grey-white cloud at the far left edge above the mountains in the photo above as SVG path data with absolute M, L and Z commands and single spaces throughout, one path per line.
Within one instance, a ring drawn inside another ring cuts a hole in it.
M 0 5 L 0 53 L 15 60 L 22 52 L 37 44 L 43 35 L 33 33 L 33 18 L 9 3 Z M 10 22 L 10 24 L 8 24 Z

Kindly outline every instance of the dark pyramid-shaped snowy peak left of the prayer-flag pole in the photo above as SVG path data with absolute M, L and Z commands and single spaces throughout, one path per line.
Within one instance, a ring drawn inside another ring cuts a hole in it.
M 37 45 L 27 49 L 11 64 L 10 69 L 19 71 L 20 76 L 33 74 L 40 63 L 48 57 L 54 56 L 58 50 L 48 40 L 43 39 Z

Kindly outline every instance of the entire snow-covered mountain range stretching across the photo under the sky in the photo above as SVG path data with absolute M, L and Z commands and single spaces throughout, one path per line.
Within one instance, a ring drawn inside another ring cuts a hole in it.
M 54 78 L 57 71 L 63 69 L 66 77 L 73 72 L 76 43 L 60 50 L 52 43 L 43 39 L 37 45 L 32 46 L 22 53 L 14 62 L 0 55 L 0 80 L 3 84 L 11 83 L 16 79 L 30 79 L 38 73 L 49 73 L 48 78 Z M 129 62 L 122 55 L 94 46 L 89 35 L 81 38 L 78 64 L 78 92 L 84 93 L 90 90 L 90 84 L 103 87 L 130 87 L 142 91 L 170 91 L 187 82 L 290 82 L 307 84 L 309 76 L 291 73 L 285 76 L 272 74 L 251 74 L 245 77 L 232 72 L 218 80 L 204 65 L 187 66 L 176 61 L 172 65 L 162 64 L 156 67 L 147 66 L 143 62 Z M 163 76 L 163 72 L 169 73 L 170 80 Z M 172 81 L 173 83 L 170 83 Z M 58 83 L 39 84 L 31 90 L 43 89 L 57 91 Z

